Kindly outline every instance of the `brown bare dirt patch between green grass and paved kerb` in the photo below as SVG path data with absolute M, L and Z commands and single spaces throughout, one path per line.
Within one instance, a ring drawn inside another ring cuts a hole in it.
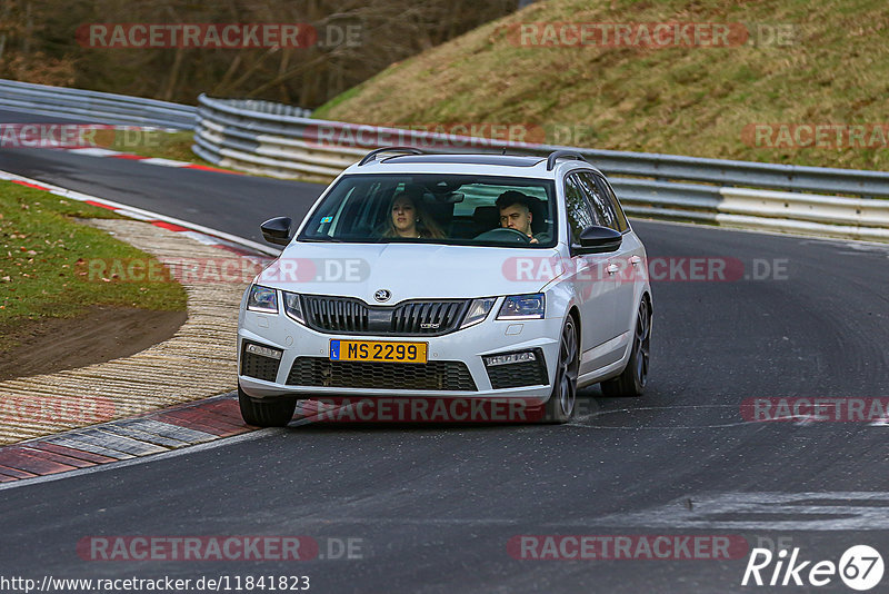
M 93 306 L 71 319 L 26 321 L 11 331 L 18 346 L 0 352 L 0 380 L 129 357 L 171 338 L 186 319 L 186 311 Z

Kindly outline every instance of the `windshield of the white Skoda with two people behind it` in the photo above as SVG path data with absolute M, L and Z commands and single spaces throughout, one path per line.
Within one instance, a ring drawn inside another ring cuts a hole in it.
M 352 175 L 328 192 L 300 241 L 556 245 L 555 185 L 471 175 Z

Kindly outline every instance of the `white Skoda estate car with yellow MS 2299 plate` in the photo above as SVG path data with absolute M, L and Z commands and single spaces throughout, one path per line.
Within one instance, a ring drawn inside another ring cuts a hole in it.
M 248 424 L 333 396 L 520 400 L 565 423 L 579 387 L 646 386 L 645 247 L 579 154 L 380 149 L 296 232 L 284 217 L 262 232 L 286 247 L 241 303 Z

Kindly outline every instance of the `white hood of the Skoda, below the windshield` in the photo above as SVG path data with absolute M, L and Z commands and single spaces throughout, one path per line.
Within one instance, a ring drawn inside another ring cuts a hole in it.
M 358 297 L 380 303 L 538 293 L 552 280 L 552 248 L 426 244 L 290 244 L 257 283 L 292 293 Z M 542 270 L 541 270 L 542 269 Z

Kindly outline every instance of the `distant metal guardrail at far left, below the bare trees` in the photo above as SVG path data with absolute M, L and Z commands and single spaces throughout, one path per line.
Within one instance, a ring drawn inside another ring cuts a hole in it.
M 88 123 L 191 130 L 197 108 L 108 92 L 0 79 L 0 108 Z

